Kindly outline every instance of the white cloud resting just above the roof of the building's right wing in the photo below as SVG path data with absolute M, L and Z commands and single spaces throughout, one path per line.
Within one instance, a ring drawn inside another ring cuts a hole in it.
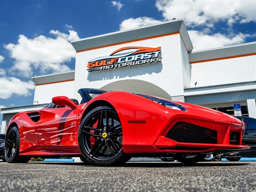
M 220 33 L 207 35 L 196 30 L 189 30 L 188 34 L 194 47 L 193 51 L 223 47 L 232 44 L 241 44 L 245 42 L 246 37 L 250 36 L 248 34 L 242 33 L 239 33 L 232 37 L 225 36 Z

